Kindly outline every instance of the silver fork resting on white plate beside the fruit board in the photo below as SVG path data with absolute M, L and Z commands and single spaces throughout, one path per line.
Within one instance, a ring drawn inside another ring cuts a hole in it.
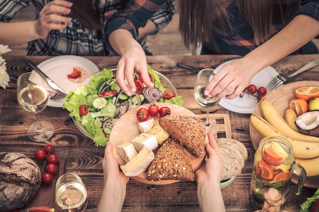
M 319 65 L 319 59 L 313 59 L 313 60 L 311 60 L 311 62 L 307 63 L 306 65 L 301 67 L 299 70 L 295 71 L 294 73 L 292 73 L 288 76 L 284 76 L 284 75 L 279 74 L 266 86 L 266 88 L 268 91 L 271 91 L 271 90 L 283 85 L 283 83 L 285 81 L 287 81 L 288 78 L 294 77 L 297 74 L 300 74 L 301 72 L 307 71 L 308 69 L 311 69 L 311 68 L 318 66 L 318 65 Z

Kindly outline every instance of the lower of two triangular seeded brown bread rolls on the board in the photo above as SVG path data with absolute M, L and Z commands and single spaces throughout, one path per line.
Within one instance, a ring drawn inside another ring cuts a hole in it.
M 170 137 L 158 149 L 148 168 L 148 180 L 180 179 L 194 181 L 194 172 L 185 149 Z

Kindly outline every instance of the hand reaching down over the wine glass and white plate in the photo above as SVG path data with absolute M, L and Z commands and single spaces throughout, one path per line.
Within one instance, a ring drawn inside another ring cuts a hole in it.
M 212 78 L 205 89 L 205 94 L 219 99 L 223 97 L 234 99 L 243 92 L 255 74 L 256 71 L 252 70 L 252 66 L 244 59 L 236 59 L 223 66 Z

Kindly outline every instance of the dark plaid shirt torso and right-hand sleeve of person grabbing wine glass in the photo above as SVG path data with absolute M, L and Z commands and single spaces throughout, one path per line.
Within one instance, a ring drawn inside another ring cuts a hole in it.
M 257 47 L 257 45 L 254 44 L 252 29 L 240 11 L 234 6 L 232 0 L 222 0 L 221 2 L 227 9 L 230 24 L 233 29 L 228 30 L 225 35 L 220 31 L 217 24 L 213 22 L 210 42 L 202 43 L 202 54 L 246 55 Z M 319 20 L 319 0 L 293 0 L 289 7 L 290 11 L 283 14 L 285 21 L 281 21 L 278 15 L 280 11 L 274 7 L 272 36 L 277 34 L 296 15 L 304 14 Z

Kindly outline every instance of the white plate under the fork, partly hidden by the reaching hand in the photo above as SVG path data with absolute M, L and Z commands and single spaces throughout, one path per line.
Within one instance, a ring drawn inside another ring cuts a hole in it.
M 221 70 L 221 68 L 228 63 L 233 62 L 235 59 L 229 60 L 221 65 L 219 65 L 215 70 L 218 72 Z M 265 87 L 268 85 L 268 83 L 278 75 L 278 72 L 271 66 L 268 66 L 264 69 L 262 69 L 260 72 L 258 72 L 250 81 L 249 84 L 254 84 L 257 87 Z M 219 105 L 224 107 L 227 110 L 236 112 L 236 113 L 244 113 L 244 114 L 250 114 L 253 112 L 255 106 L 257 105 L 257 98 L 245 94 L 243 97 L 236 97 L 235 99 L 229 100 L 229 99 L 221 99 L 219 102 Z

